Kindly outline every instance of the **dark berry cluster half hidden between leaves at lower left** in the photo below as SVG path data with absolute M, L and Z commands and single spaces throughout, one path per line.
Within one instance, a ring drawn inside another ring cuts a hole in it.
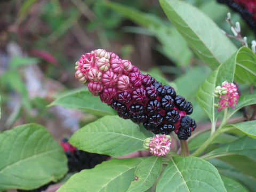
M 106 161 L 109 156 L 89 153 L 78 150 L 70 145 L 67 139 L 63 139 L 61 146 L 68 157 L 68 172 L 79 172 L 84 169 L 92 169 L 94 166 Z

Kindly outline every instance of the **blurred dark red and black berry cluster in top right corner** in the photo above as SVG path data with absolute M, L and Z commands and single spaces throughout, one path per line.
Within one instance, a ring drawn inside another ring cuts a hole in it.
M 241 14 L 256 34 L 256 1 L 255 0 L 217 0 L 227 4 L 232 10 Z

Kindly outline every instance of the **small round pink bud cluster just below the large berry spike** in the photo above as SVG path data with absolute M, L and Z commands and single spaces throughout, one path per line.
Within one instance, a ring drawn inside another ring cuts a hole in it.
M 171 146 L 171 137 L 170 135 L 156 135 L 151 138 L 149 142 L 149 151 L 153 155 L 165 156 L 170 150 Z

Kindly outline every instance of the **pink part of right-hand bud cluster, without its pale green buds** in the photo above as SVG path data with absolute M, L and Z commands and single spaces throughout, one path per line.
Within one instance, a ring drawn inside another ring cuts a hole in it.
M 237 87 L 234 83 L 228 83 L 227 81 L 222 83 L 222 87 L 225 87 L 227 94 L 220 94 L 218 111 L 225 109 L 227 107 L 234 108 L 238 102 L 239 95 L 237 93 Z

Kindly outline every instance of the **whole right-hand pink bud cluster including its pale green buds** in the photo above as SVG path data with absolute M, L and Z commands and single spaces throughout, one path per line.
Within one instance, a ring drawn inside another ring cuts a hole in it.
M 215 107 L 218 107 L 218 111 L 228 107 L 234 108 L 239 98 L 236 85 L 227 81 L 223 82 L 221 87 L 217 86 L 213 95 L 215 98 L 220 99 L 218 104 L 215 104 Z

